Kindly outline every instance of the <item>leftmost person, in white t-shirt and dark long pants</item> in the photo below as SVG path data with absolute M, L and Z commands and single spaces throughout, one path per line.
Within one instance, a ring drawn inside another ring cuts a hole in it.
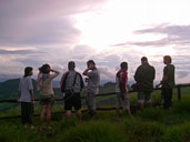
M 27 67 L 24 69 L 24 75 L 20 79 L 19 83 L 19 95 L 18 101 L 21 102 L 21 121 L 24 128 L 27 128 L 27 123 L 30 124 L 31 129 L 34 129 L 33 126 L 33 84 L 31 80 L 31 75 L 33 74 L 32 68 Z

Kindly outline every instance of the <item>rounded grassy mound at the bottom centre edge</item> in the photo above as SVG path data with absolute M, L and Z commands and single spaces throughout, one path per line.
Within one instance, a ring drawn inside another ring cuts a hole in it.
M 93 121 L 69 129 L 60 142 L 126 142 L 126 135 L 116 123 Z

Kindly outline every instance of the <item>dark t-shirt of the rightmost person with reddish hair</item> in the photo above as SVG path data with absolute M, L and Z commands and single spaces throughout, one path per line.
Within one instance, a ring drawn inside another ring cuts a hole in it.
M 174 87 L 174 65 L 168 64 L 163 69 L 163 77 L 167 77 L 167 80 L 163 81 L 162 88 L 172 89 Z

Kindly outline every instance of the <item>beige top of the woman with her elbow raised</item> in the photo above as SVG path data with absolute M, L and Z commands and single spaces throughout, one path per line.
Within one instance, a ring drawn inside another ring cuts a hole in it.
M 42 74 L 41 74 L 42 75 Z M 52 79 L 54 79 L 58 74 L 49 74 L 46 79 L 41 79 L 40 84 L 40 94 L 41 95 L 49 95 L 54 94 L 53 88 L 52 88 Z

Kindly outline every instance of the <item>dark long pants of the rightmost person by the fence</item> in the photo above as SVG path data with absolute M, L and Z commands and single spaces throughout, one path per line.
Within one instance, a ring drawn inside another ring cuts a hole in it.
M 161 95 L 163 98 L 163 108 L 169 109 L 172 104 L 172 89 L 163 88 Z

